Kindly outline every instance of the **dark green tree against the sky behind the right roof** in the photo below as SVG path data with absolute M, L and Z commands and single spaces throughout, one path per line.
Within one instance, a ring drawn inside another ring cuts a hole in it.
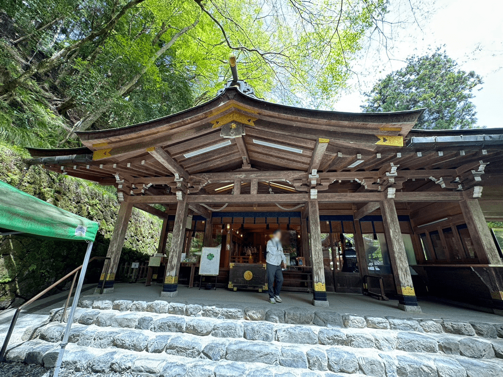
M 475 72 L 465 72 L 445 52 L 411 56 L 407 65 L 379 80 L 365 93 L 365 112 L 426 108 L 417 128 L 472 128 L 477 122 L 472 90 L 482 84 Z

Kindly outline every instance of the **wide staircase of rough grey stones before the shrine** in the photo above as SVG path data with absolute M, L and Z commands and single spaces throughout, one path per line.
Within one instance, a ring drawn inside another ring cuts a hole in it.
M 61 313 L 27 329 L 8 361 L 53 367 Z M 503 324 L 83 299 L 63 366 L 160 377 L 502 377 L 501 338 Z

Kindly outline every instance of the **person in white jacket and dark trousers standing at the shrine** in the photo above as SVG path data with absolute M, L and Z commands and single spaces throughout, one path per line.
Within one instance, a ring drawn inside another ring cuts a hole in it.
M 269 302 L 271 304 L 280 303 L 282 301 L 280 292 L 283 286 L 283 271 L 281 268 L 286 268 L 286 257 L 283 254 L 283 246 L 281 245 L 281 229 L 275 230 L 273 238 L 267 241 L 266 251 Z

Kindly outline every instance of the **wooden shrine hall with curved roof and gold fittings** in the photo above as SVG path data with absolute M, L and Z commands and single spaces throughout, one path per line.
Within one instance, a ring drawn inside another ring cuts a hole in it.
M 503 129 L 415 130 L 422 112 L 278 105 L 235 74 L 200 106 L 77 132 L 85 147 L 30 148 L 28 162 L 117 188 L 107 291 L 135 207 L 164 220 L 163 296 L 177 294 L 197 233 L 221 245 L 218 283 L 235 288 L 234 263 L 263 263 L 281 228 L 285 289 L 312 293 L 314 305 L 328 305 L 327 291 L 369 291 L 420 311 L 417 292 L 503 314 L 502 255 L 486 224 L 503 220 Z

